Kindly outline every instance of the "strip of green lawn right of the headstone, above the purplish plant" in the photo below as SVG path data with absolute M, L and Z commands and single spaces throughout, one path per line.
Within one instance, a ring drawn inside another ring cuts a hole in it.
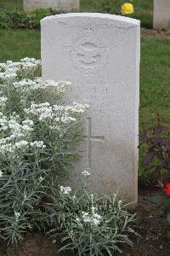
M 170 124 L 170 38 L 143 37 L 140 67 L 140 127 L 152 125 L 156 113 Z

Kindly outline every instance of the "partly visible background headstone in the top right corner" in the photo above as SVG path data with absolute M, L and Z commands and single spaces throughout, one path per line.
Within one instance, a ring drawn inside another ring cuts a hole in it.
M 170 0 L 154 0 L 154 28 L 170 27 Z

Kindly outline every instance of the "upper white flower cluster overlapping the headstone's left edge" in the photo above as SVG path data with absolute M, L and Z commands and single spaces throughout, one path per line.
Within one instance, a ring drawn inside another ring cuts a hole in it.
M 67 84 L 70 84 L 70 82 L 55 82 L 54 80 L 43 80 L 42 78 L 37 78 L 34 80 L 23 79 L 13 83 L 14 88 L 25 91 L 54 88 L 55 92 L 59 95 L 65 91 L 65 85 Z

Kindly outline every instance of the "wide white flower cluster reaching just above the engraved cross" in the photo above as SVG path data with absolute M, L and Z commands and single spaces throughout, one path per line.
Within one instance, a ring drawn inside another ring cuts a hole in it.
M 77 113 L 85 113 L 87 105 L 82 105 L 74 102 L 73 106 L 50 106 L 48 102 L 41 104 L 31 103 L 31 108 L 26 108 L 26 113 L 31 113 L 38 117 L 40 121 L 50 120 L 51 129 L 60 129 L 60 125 L 76 122 L 77 119 L 74 116 Z M 72 116 L 73 115 L 73 116 Z

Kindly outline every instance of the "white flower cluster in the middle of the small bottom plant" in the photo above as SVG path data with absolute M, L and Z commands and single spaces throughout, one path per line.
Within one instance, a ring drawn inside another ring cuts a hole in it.
M 95 208 L 92 207 L 92 213 L 89 214 L 89 212 L 82 212 L 82 218 L 77 218 L 76 221 L 78 224 L 83 223 L 89 223 L 94 226 L 98 226 L 100 222 L 102 221 L 102 217 L 94 212 Z M 82 220 L 82 221 L 81 221 Z

